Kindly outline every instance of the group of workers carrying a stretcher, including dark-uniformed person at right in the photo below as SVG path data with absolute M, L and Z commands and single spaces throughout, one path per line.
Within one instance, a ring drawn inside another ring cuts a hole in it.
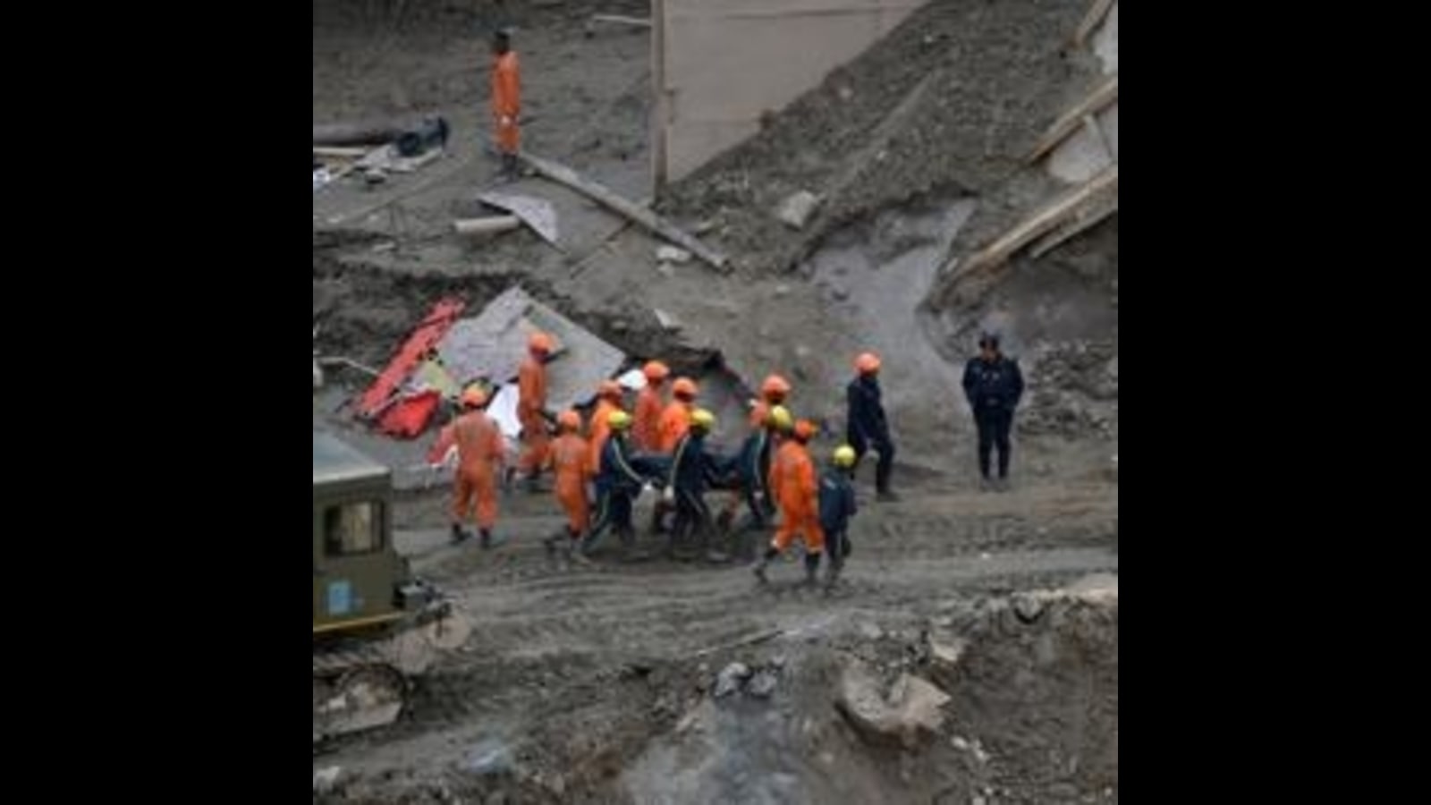
M 677 546 L 695 543 L 708 560 L 726 561 L 728 554 L 717 549 L 716 539 L 727 536 L 737 553 L 756 559 L 753 534 L 776 524 L 774 539 L 754 564 L 756 576 L 766 582 L 770 561 L 798 536 L 804 540 L 806 580 L 811 584 L 817 580 L 820 557 L 829 556 L 826 583 L 833 584 L 851 550 L 849 523 L 857 510 L 853 478 L 867 453 L 879 455 L 876 498 L 899 500 L 890 487 L 894 443 L 880 395 L 880 358 L 873 352 L 854 360 L 856 377 L 846 388 L 847 443 L 831 453 L 830 466 L 817 477 L 810 441 L 819 428 L 790 413 L 791 385 L 774 374 L 761 382 L 760 398 L 750 408 L 748 433 L 733 455 L 721 455 L 705 444 L 716 417 L 697 405 L 697 382 L 687 377 L 673 380 L 661 361 L 643 367 L 645 385 L 631 411 L 625 390 L 615 381 L 602 381 L 590 420 L 584 423 L 577 410 L 562 411 L 555 417 L 552 440 L 545 410 L 545 367 L 552 347 L 551 337 L 534 334 L 518 370 L 521 454 L 515 467 L 505 466 L 501 431 L 485 411 L 488 392 L 469 385 L 461 394 L 462 413 L 442 437 L 455 444 L 458 455 L 452 501 L 455 543 L 471 537 L 462 523 L 475 506 L 479 544 L 492 547 L 499 487 L 509 491 L 521 474 L 528 490 L 541 491 L 541 476 L 551 473 L 557 501 L 567 516 L 565 529 L 545 540 L 552 553 L 590 561 L 600 540 L 615 533 L 622 556 L 640 559 L 633 508 L 637 497 L 651 488 L 660 491 L 651 533 L 668 536 L 668 557 Z M 999 354 L 997 337 L 986 334 L 980 348 L 982 354 L 964 368 L 963 385 L 979 427 L 980 471 L 990 483 L 989 454 L 997 447 L 1002 486 L 1009 470 L 1009 427 L 1023 378 L 1017 364 Z M 713 514 L 705 501 L 711 490 L 730 493 L 720 514 Z M 741 504 L 747 511 L 737 524 Z

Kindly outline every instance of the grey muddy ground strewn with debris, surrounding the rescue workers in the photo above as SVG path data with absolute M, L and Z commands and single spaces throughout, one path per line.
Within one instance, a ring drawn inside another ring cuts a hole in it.
M 451 219 L 479 209 L 475 193 L 495 186 L 495 163 L 475 135 L 487 102 L 481 37 L 498 19 L 518 30 L 532 115 L 527 148 L 635 199 L 650 192 L 650 43 L 641 30 L 617 27 L 585 36 L 574 3 L 508 0 L 499 11 L 415 0 L 401 4 L 401 19 L 398 6 L 315 1 L 313 120 L 441 113 L 455 138 L 419 173 L 315 195 L 315 348 L 382 365 L 441 295 L 459 294 L 478 309 L 519 282 L 633 357 L 700 374 L 718 355 L 751 381 L 780 371 L 797 384 L 797 413 L 836 430 L 850 358 L 876 348 L 886 358 L 904 497 L 874 504 L 870 470 L 861 471 L 856 553 L 843 584 L 824 594 L 791 586 L 797 564 L 777 567 L 776 583 L 757 589 L 741 564 L 552 563 L 539 540 L 561 517 L 554 501 L 527 494 L 502 501 L 505 546 L 454 549 L 441 533 L 445 493 L 404 493 L 401 547 L 454 592 L 477 629 L 422 680 L 399 723 L 315 753 L 315 772 L 341 769 L 315 799 L 1116 802 L 1116 592 L 1112 602 L 1066 602 L 1033 619 L 1009 614 L 1022 592 L 1090 573 L 1116 577 L 1116 216 L 1019 264 L 973 304 L 920 311 L 939 262 L 983 212 L 980 186 L 1003 176 L 1009 155 L 1092 76 L 1079 57 L 1060 54 L 1058 40 L 1013 33 L 1076 23 L 1082 4 L 936 3 L 914 17 L 923 19 L 917 40 L 902 46 L 919 57 L 879 57 L 831 76 L 788 119 L 773 120 L 771 130 L 786 133 L 658 199 L 683 222 L 710 222 L 708 241 L 737 261 L 733 274 L 663 266 L 654 241 L 532 178 L 508 189 L 557 206 L 558 248 L 525 231 L 485 244 L 454 236 Z M 644 16 L 638 1 L 600 10 Z M 976 56 L 975 27 L 1007 47 Z M 902 27 L 892 42 L 913 30 Z M 1020 72 L 1010 77 L 1010 69 Z M 916 95 L 900 116 L 904 127 L 871 129 L 922 74 L 947 85 L 932 95 L 937 103 L 926 107 Z M 840 107 L 830 92 L 857 113 L 831 116 Z M 1010 95 L 1019 102 L 997 112 L 980 100 Z M 953 116 L 947 97 L 977 113 Z M 1002 127 L 979 145 L 954 123 L 966 117 Z M 811 126 L 820 138 L 797 136 Z M 874 153 L 897 153 L 903 166 L 944 153 L 942 142 L 959 145 L 914 183 L 896 170 L 879 185 L 841 156 L 883 143 Z M 791 162 L 806 150 L 819 158 Z M 770 172 L 776 162 L 806 168 Z M 747 170 L 751 189 L 741 191 L 750 196 L 720 191 L 731 166 L 757 165 L 761 172 Z M 844 176 L 859 180 L 840 183 Z M 807 182 L 836 182 L 849 201 L 813 236 L 767 238 L 764 205 Z M 907 192 L 894 192 L 900 186 Z M 663 325 L 657 311 L 678 325 Z M 1002 494 L 977 488 L 973 428 L 957 390 L 982 327 L 1006 334 L 1029 378 L 1016 483 Z M 392 463 L 421 454 L 425 441 L 381 445 L 345 417 L 341 401 L 361 388 L 361 374 L 331 380 L 335 387 L 315 395 L 315 425 L 372 444 Z M 738 431 L 724 417 L 717 444 L 733 444 Z M 834 444 L 824 438 L 817 450 Z M 751 636 L 767 639 L 730 647 Z M 930 640 L 954 637 L 967 642 L 963 657 L 953 672 L 936 667 Z M 771 669 L 774 692 L 714 698 L 716 676 L 731 662 Z M 952 696 L 944 723 L 912 748 L 860 733 L 834 706 L 837 680 L 854 662 L 940 685 Z

